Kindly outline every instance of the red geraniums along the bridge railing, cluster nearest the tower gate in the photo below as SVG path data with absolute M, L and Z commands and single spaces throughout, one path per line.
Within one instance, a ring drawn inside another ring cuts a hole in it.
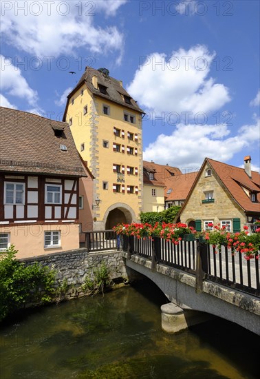
M 138 238 L 144 237 L 160 237 L 166 239 L 177 245 L 184 234 L 195 234 L 196 231 L 193 227 L 188 227 L 184 223 L 177 224 L 166 224 L 166 223 L 155 223 L 152 227 L 150 224 L 118 224 L 113 227 L 117 234 L 126 234 L 127 236 L 136 236 Z

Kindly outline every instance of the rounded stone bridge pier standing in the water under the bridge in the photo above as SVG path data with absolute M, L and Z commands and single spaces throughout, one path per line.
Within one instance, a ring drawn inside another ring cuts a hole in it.
M 162 305 L 162 330 L 167 333 L 177 333 L 191 325 L 200 324 L 213 318 L 212 315 L 192 309 L 182 309 L 176 304 Z

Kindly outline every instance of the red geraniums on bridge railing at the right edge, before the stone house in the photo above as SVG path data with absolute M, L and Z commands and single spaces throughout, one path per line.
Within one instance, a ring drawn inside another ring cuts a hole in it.
M 227 232 L 226 227 L 220 227 L 219 224 L 208 224 L 208 226 L 213 227 L 213 230 L 202 232 L 206 243 L 213 245 L 219 251 L 223 245 L 232 248 L 233 251 L 244 254 L 247 260 L 254 257 L 259 258 L 260 228 L 256 230 L 256 233 L 249 235 L 248 226 L 246 225 L 243 227 L 242 232 L 236 233 Z

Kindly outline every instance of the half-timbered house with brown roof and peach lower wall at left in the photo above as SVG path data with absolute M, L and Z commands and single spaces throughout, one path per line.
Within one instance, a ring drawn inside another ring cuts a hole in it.
M 86 171 L 67 123 L 0 107 L 0 250 L 17 258 L 79 246 Z

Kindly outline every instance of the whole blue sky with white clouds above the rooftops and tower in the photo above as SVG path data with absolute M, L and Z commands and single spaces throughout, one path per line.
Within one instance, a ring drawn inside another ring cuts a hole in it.
M 2 0 L 1 105 L 62 119 L 105 67 L 147 113 L 144 159 L 259 170 L 259 35 L 259 1 Z

